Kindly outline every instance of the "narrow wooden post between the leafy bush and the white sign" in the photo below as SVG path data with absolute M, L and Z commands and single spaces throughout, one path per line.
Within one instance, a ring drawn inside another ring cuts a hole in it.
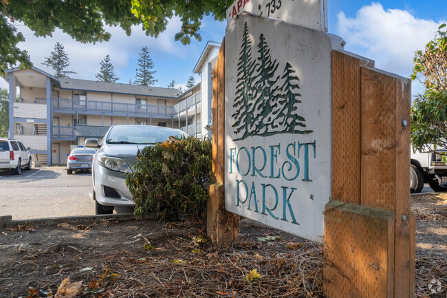
M 212 78 L 212 175 L 208 199 L 206 231 L 217 245 L 232 243 L 239 237 L 239 215 L 225 209 L 225 39 Z

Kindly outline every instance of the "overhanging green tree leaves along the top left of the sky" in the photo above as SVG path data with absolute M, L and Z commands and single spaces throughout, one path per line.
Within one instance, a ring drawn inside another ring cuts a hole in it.
M 24 41 L 17 33 L 17 21 L 23 22 L 36 36 L 52 36 L 56 28 L 81 43 L 109 41 L 105 25 L 119 25 L 127 35 L 132 25 L 142 25 L 147 35 L 157 37 L 166 30 L 168 20 L 180 17 L 182 28 L 175 40 L 189 44 L 198 34 L 201 19 L 212 14 L 226 18 L 233 0 L 0 0 L 0 72 L 16 65 L 31 65 L 26 51 L 17 44 Z

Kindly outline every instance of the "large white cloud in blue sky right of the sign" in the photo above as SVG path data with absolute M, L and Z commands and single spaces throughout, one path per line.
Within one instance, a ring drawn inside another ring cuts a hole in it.
M 384 10 L 380 3 L 371 3 L 358 10 L 354 18 L 340 12 L 337 33 L 347 42 L 346 50 L 373 59 L 382 70 L 408 77 L 415 51 L 424 49 L 441 23 L 444 22 L 417 19 L 406 10 Z M 413 82 L 413 94 L 422 91 L 422 85 Z

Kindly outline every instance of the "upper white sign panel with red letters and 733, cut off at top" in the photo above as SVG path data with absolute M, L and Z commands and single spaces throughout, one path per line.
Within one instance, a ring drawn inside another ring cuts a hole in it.
M 227 22 L 242 12 L 327 32 L 327 0 L 236 0 L 227 10 Z

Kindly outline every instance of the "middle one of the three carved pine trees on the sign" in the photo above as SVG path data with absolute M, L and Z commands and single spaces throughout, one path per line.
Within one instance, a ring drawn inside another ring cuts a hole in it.
M 279 76 L 274 78 L 274 73 L 279 66 L 276 60 L 272 61 L 270 48 L 263 34 L 259 36 L 256 65 L 257 75 L 254 78 L 254 89 L 257 94 L 255 96 L 254 116 L 257 117 L 255 123 L 255 133 L 257 135 L 268 135 L 278 128 L 275 124 L 276 116 L 279 111 L 278 100 L 273 96 L 276 88 L 272 86 L 278 81 Z

